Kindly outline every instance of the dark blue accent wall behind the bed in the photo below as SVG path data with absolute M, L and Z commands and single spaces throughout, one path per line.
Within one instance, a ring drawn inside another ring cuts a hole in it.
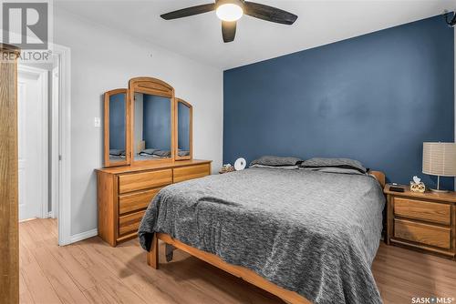
M 453 48 L 436 16 L 227 70 L 223 163 L 350 157 L 389 181 L 418 175 L 433 187 L 422 143 L 454 141 Z

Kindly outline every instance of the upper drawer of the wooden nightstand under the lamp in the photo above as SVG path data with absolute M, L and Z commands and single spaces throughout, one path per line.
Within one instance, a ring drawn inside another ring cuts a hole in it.
M 394 215 L 450 225 L 451 205 L 410 198 L 394 198 Z

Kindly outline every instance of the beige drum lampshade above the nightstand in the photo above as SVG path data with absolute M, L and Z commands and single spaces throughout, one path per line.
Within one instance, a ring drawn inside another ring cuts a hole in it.
M 423 173 L 456 177 L 456 143 L 423 143 Z

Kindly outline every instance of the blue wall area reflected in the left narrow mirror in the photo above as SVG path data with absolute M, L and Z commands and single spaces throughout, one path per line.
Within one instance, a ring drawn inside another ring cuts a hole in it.
M 125 147 L 125 94 L 116 94 L 109 96 L 109 148 Z

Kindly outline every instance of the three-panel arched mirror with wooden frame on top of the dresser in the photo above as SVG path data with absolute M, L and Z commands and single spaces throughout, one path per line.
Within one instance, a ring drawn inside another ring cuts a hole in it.
M 159 79 L 105 93 L 105 167 L 192 159 L 192 105 Z

